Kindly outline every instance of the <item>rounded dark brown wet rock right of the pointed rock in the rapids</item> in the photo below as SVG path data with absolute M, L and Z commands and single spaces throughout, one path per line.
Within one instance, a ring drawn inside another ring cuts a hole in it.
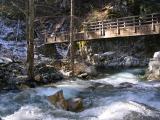
M 73 98 L 68 100 L 68 110 L 79 112 L 83 110 L 83 102 L 81 98 Z

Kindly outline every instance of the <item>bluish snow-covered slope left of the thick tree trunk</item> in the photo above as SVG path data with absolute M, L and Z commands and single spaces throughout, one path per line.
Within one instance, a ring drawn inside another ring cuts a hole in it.
M 26 58 L 27 48 L 26 41 L 6 41 L 5 38 L 11 33 L 23 34 L 22 29 L 18 29 L 18 24 L 13 21 L 11 25 L 5 25 L 5 21 L 0 19 L 0 57 L 22 60 Z M 22 24 L 22 23 L 19 23 Z

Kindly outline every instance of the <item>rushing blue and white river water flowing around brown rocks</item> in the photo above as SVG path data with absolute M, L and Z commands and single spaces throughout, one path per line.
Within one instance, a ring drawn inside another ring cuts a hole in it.
M 160 83 L 140 81 L 139 69 L 106 75 L 97 80 L 76 80 L 18 93 L 0 94 L 4 120 L 160 120 Z M 82 97 L 84 111 L 56 108 L 46 96 L 62 89 L 66 99 Z

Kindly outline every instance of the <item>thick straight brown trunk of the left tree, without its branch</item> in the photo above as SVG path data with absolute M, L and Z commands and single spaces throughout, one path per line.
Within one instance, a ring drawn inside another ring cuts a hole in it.
M 28 5 L 28 78 L 34 80 L 34 0 L 29 0 Z

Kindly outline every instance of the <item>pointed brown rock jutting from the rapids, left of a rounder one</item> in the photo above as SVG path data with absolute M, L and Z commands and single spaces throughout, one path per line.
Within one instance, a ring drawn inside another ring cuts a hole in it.
M 68 104 L 67 101 L 64 99 L 63 91 L 57 91 L 55 94 L 48 96 L 49 101 L 54 104 L 58 108 L 62 108 L 67 110 Z

